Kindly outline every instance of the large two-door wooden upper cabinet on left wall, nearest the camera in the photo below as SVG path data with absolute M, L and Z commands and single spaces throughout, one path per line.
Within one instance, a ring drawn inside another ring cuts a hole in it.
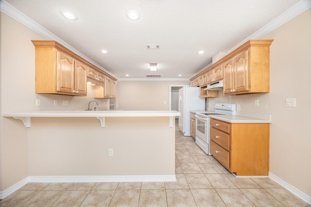
M 35 93 L 86 96 L 86 64 L 55 41 L 35 45 Z

